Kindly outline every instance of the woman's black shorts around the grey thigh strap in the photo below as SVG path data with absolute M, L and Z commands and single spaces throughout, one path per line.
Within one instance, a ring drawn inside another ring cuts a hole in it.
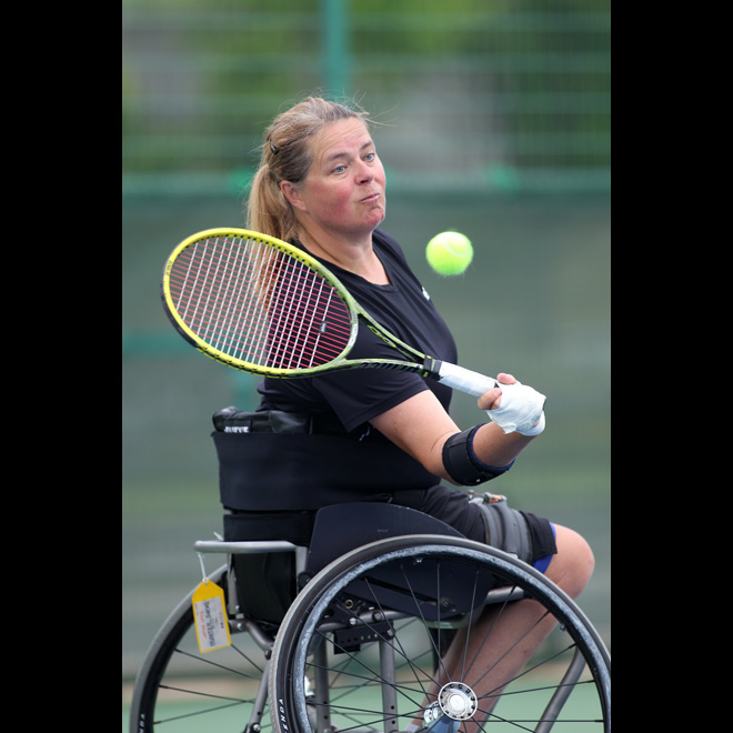
M 398 491 L 392 502 L 409 509 L 416 509 L 424 514 L 445 522 L 469 540 L 486 542 L 486 522 L 483 512 L 491 511 L 491 504 L 472 502 L 474 495 L 461 489 L 452 489 L 444 484 L 438 484 L 430 489 Z M 510 510 L 516 514 L 519 521 L 526 525 L 530 538 L 530 550 L 528 556 L 521 558 L 524 562 L 534 565 L 544 572 L 550 564 L 550 559 L 558 552 L 555 534 L 552 523 L 543 516 L 536 516 L 531 512 Z M 489 544 L 499 550 L 506 550 L 503 543 L 494 543 L 489 538 Z

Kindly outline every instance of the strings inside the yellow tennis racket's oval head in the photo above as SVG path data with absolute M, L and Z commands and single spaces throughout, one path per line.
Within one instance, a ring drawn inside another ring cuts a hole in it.
M 343 352 L 349 308 L 320 273 L 254 239 L 203 239 L 169 274 L 185 325 L 222 354 L 251 364 L 304 369 Z

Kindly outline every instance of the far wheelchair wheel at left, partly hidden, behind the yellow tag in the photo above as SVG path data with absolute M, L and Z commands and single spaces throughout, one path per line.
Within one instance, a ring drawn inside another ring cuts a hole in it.
M 210 576 L 227 593 L 223 565 Z M 273 630 L 231 624 L 232 645 L 199 651 L 193 591 L 170 614 L 138 673 L 130 709 L 130 733 L 267 731 L 268 657 Z

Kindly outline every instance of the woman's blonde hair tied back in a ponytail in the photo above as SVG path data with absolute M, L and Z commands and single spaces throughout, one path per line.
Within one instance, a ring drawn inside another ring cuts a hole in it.
M 310 139 L 340 120 L 360 119 L 366 113 L 320 97 L 308 97 L 279 114 L 264 131 L 260 168 L 251 183 L 247 227 L 257 232 L 291 241 L 298 234 L 293 209 L 280 190 L 281 181 L 294 187 L 303 182 L 311 167 Z

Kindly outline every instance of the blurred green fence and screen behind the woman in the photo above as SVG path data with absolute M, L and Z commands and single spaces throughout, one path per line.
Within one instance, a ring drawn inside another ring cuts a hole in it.
M 163 262 L 241 227 L 261 132 L 320 90 L 379 122 L 384 229 L 451 324 L 461 364 L 549 395 L 548 430 L 494 491 L 583 533 L 581 605 L 610 642 L 610 0 L 123 0 L 122 677 L 221 530 L 211 413 L 257 379 L 175 334 Z M 428 240 L 475 258 L 439 278 Z M 454 400 L 462 426 L 475 401 Z M 217 561 L 207 560 L 212 571 Z M 123 693 L 124 694 L 124 693 Z

